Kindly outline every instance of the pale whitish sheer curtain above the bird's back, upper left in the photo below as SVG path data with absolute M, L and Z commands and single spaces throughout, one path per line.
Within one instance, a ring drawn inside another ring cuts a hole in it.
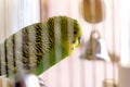
M 39 0 L 0 0 L 0 42 L 40 21 Z

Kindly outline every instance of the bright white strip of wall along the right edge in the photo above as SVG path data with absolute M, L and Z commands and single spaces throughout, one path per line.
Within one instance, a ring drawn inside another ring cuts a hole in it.
M 130 0 L 120 0 L 121 63 L 130 65 Z

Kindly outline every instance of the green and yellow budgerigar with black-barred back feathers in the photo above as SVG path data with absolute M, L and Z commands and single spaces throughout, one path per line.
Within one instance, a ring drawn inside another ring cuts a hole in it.
M 77 20 L 52 16 L 13 34 L 0 45 L 0 75 L 40 75 L 80 44 L 81 28 Z

